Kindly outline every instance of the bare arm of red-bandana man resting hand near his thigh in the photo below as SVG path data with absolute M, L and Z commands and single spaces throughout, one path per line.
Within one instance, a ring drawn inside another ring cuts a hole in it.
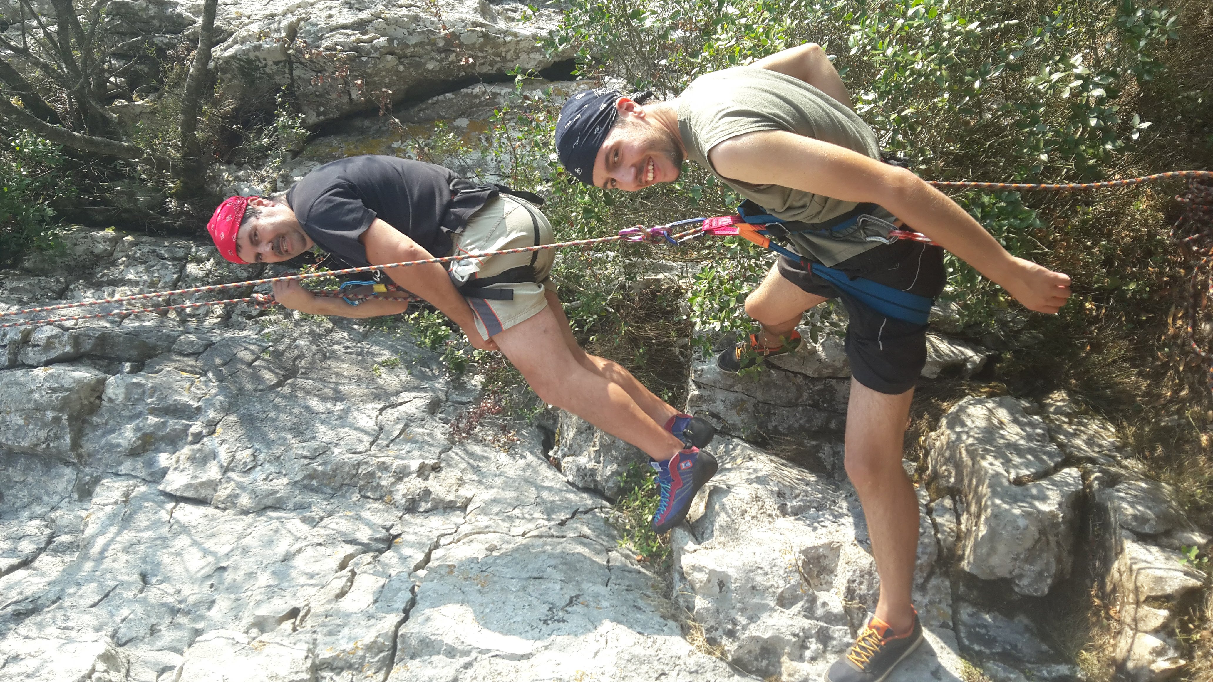
M 432 258 L 433 255 L 420 244 L 402 234 L 380 218 L 358 238 L 366 248 L 366 260 L 371 265 L 400 263 Z M 491 339 L 480 337 L 475 330 L 475 318 L 472 308 L 451 284 L 450 275 L 439 263 L 417 265 L 402 268 L 387 268 L 383 272 L 404 289 L 412 291 L 443 312 L 455 324 L 460 325 L 468 341 L 475 348 L 496 351 L 497 345 Z M 360 307 L 360 306 L 359 306 Z

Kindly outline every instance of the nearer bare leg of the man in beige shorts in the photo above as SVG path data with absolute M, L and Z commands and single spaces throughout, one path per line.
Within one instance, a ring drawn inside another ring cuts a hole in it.
M 492 340 L 543 402 L 636 445 L 655 460 L 678 454 L 684 447 L 682 441 L 647 415 L 623 387 L 586 369 L 574 357 L 564 336 L 568 329 L 568 322 L 562 324 L 548 306 Z

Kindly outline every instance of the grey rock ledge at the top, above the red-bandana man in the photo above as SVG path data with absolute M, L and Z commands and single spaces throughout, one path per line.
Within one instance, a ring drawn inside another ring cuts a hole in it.
M 226 96 L 273 109 L 290 89 L 312 125 L 380 101 L 505 80 L 516 67 L 545 69 L 573 56 L 537 45 L 558 22 L 552 8 L 485 0 L 238 1 L 221 5 L 217 23 L 229 38 L 213 63 Z

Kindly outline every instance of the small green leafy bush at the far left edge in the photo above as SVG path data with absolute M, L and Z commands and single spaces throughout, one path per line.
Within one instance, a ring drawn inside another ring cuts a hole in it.
M 28 130 L 0 138 L 0 267 L 15 265 L 30 249 L 53 245 L 51 204 L 74 193 L 63 163 L 58 144 Z

